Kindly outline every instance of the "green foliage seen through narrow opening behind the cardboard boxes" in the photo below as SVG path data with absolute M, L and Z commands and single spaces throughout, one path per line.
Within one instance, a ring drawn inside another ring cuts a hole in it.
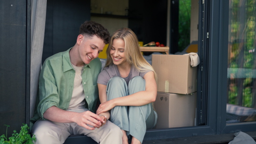
M 183 51 L 190 43 L 190 15 L 191 0 L 179 0 L 179 52 Z

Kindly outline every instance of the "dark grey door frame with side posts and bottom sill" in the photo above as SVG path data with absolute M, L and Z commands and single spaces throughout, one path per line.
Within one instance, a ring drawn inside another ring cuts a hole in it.
M 203 69 L 198 74 L 201 126 L 147 130 L 144 140 L 255 131 L 255 123 L 226 125 L 228 7 L 228 0 L 199 0 L 198 55 L 202 63 L 198 71 Z M 30 104 L 30 13 L 31 3 L 27 0 L 26 113 Z M 29 124 L 28 115 L 26 123 Z

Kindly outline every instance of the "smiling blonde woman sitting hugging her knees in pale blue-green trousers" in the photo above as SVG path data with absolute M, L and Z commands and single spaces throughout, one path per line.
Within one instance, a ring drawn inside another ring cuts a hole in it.
M 123 132 L 123 144 L 141 144 L 147 129 L 157 122 L 152 102 L 157 96 L 156 74 L 143 58 L 137 36 L 131 29 L 114 32 L 107 61 L 98 76 L 98 115 L 110 118 Z

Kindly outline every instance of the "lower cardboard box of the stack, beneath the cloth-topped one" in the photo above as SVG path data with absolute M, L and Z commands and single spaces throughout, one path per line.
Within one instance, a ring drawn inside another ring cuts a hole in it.
M 190 127 L 195 125 L 196 92 L 183 95 L 157 92 L 154 108 L 157 112 L 156 129 Z

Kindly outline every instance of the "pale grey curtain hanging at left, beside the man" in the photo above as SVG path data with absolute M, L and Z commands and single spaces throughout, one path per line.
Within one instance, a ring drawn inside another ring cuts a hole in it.
M 35 110 L 44 45 L 47 0 L 31 0 L 30 118 Z

